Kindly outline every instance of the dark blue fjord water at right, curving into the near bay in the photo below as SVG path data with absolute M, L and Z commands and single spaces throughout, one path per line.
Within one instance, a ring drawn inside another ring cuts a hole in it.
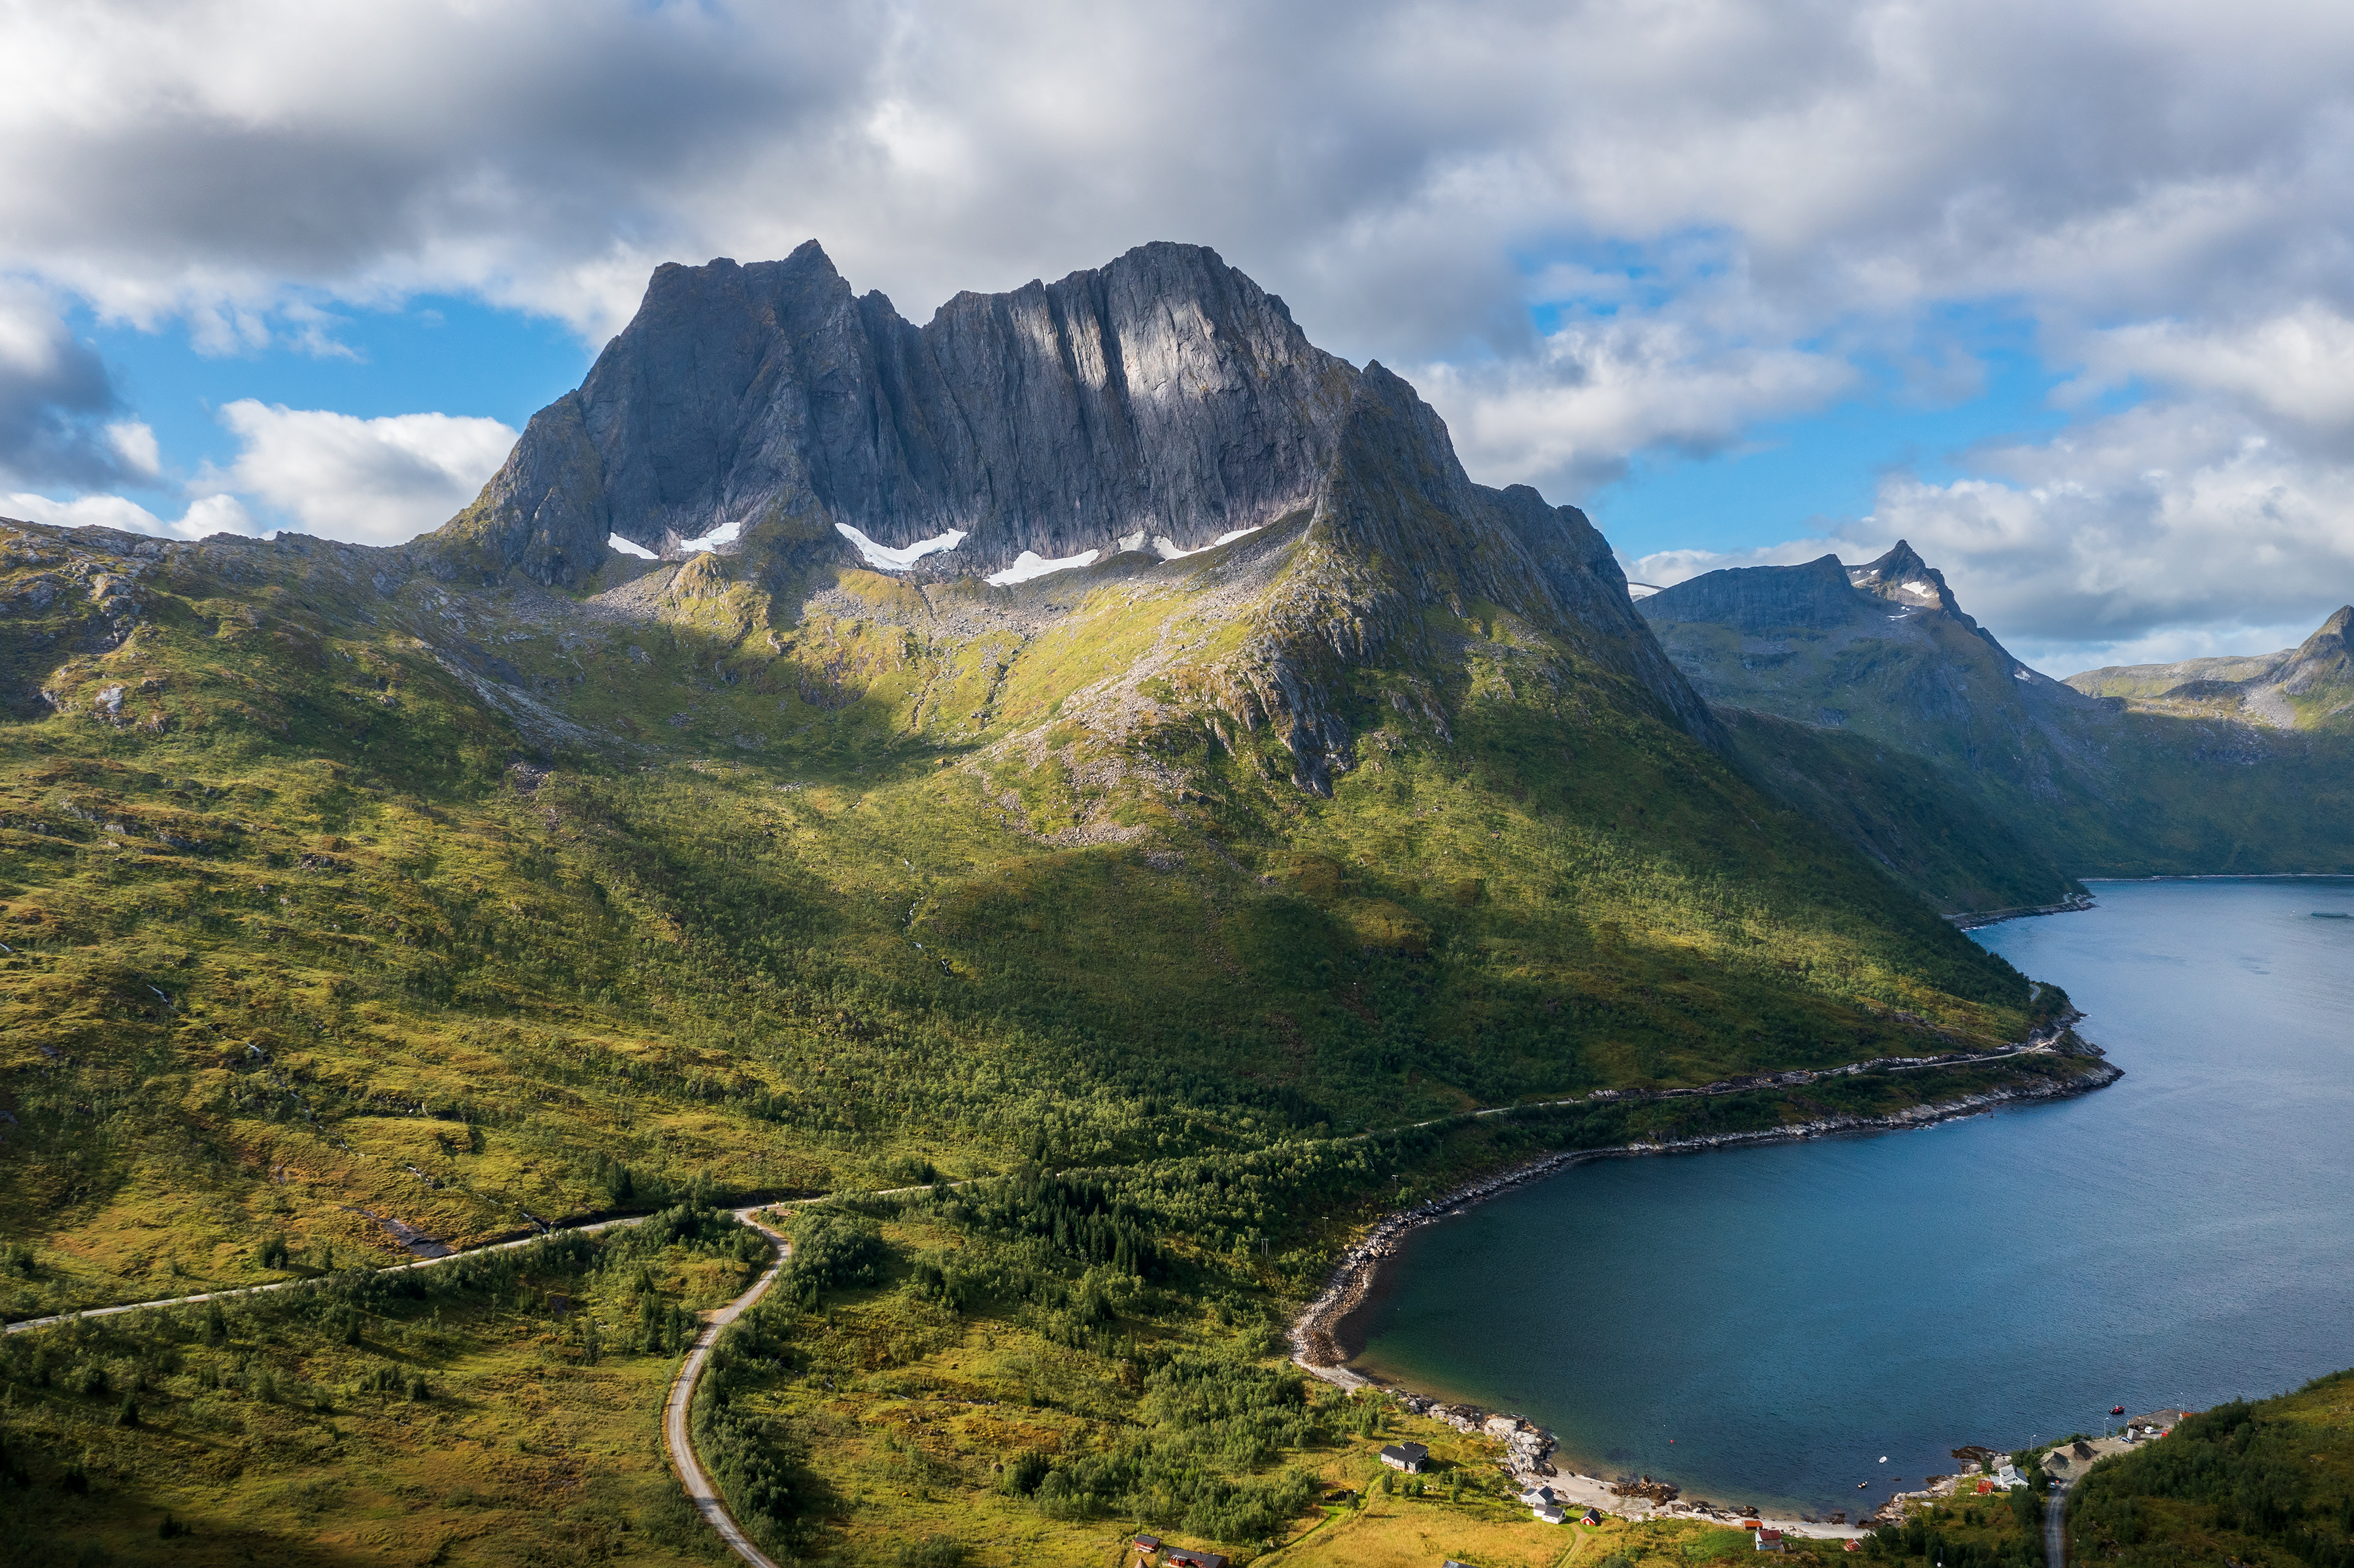
M 2067 986 L 2116 1085 L 1575 1168 L 1412 1234 L 1356 1366 L 1565 1469 L 1806 1511 L 2354 1366 L 2354 921 L 2314 918 L 2354 881 L 2093 892 L 1973 935 Z

